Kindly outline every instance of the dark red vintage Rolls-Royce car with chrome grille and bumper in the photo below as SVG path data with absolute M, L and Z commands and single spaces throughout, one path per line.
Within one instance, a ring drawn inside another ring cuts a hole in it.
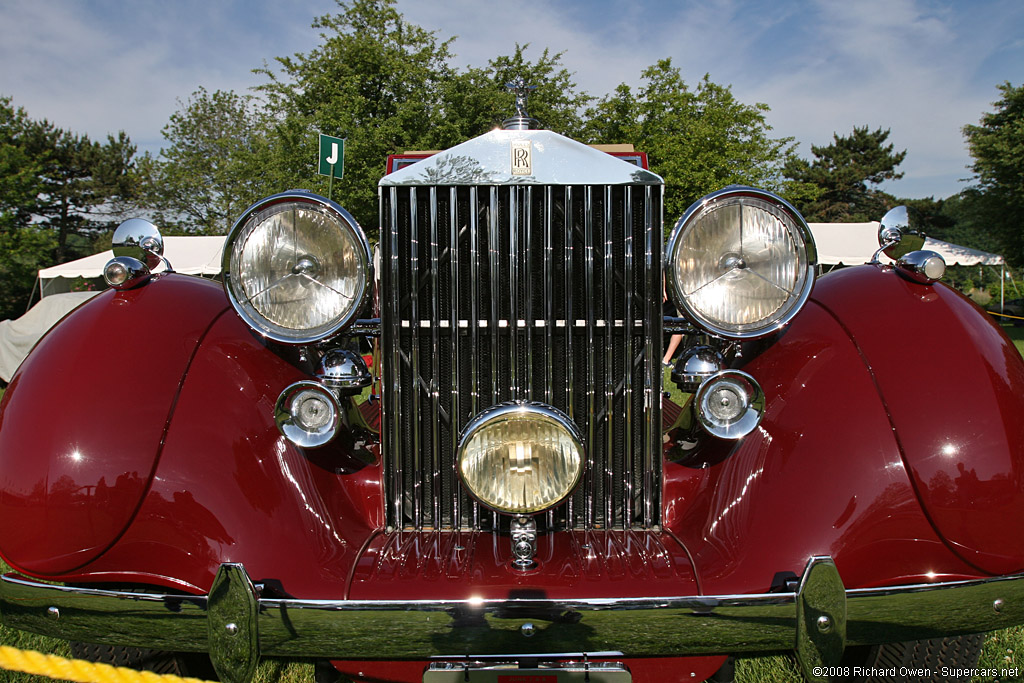
M 303 191 L 222 287 L 129 221 L 3 396 L 4 625 L 236 683 L 955 678 L 1024 622 L 1019 353 L 905 214 L 816 280 L 778 197 L 666 246 L 663 191 L 520 112 L 380 181 L 376 259 Z

